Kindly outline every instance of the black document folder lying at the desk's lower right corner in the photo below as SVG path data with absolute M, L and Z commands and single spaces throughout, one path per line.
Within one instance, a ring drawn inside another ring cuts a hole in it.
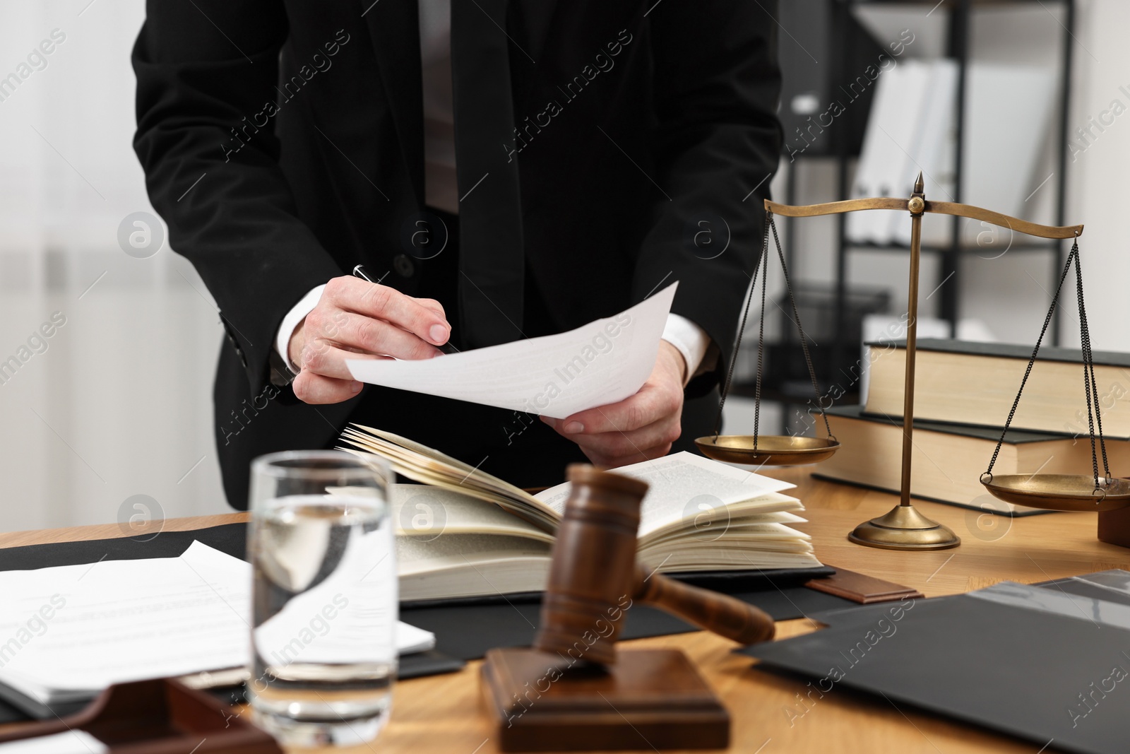
M 1118 598 L 1080 593 L 1096 588 Z M 758 667 L 817 677 L 824 694 L 842 686 L 884 694 L 1026 738 L 1034 752 L 1125 754 L 1130 591 L 1118 591 L 1087 578 L 1002 582 L 905 607 L 822 614 L 828 629 L 741 651 Z

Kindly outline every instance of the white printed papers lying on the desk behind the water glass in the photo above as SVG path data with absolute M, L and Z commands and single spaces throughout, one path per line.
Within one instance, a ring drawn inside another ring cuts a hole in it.
M 10 638 L 0 644 L 0 683 L 61 702 L 115 683 L 245 666 L 251 581 L 250 563 L 199 541 L 180 557 L 0 572 L 0 636 Z M 398 642 L 428 649 L 416 631 L 398 630 Z

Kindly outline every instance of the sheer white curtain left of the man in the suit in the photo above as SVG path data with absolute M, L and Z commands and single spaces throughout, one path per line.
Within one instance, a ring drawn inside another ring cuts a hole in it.
M 144 15 L 140 0 L 2 10 L 3 531 L 228 510 L 215 304 L 167 242 L 146 258 L 119 244 L 123 218 L 153 214 L 131 148 Z

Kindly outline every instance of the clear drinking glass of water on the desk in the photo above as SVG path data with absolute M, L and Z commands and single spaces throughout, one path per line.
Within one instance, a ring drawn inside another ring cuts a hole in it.
M 397 565 L 388 466 L 289 451 L 251 466 L 255 722 L 287 746 L 356 745 L 388 721 Z

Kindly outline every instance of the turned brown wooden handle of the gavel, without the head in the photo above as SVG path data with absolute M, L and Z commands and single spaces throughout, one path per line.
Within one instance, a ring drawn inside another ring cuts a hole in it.
M 772 639 L 773 618 L 740 599 L 668 579 L 637 564 L 633 599 L 654 605 L 740 644 Z

